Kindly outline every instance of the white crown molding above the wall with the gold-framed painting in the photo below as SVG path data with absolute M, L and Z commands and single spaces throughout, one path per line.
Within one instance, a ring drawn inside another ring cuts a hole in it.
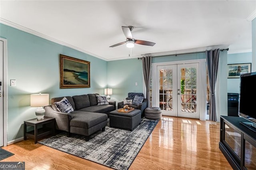
M 0 23 L 5 24 L 5 25 L 7 25 L 7 26 L 11 26 L 11 27 L 16 28 L 16 29 L 18 29 L 18 30 L 21 30 L 21 31 L 24 31 L 24 32 L 33 34 L 33 35 L 38 36 L 38 37 L 40 37 L 40 38 L 44 38 L 44 39 L 49 40 L 49 41 L 51 41 L 51 42 L 55 42 L 55 43 L 58 43 L 58 44 L 60 44 L 60 45 L 64 45 L 64 46 L 66 46 L 66 47 L 70 47 L 70 48 L 72 48 L 72 49 L 76 49 L 77 51 L 81 51 L 81 52 L 83 52 L 83 53 L 92 55 L 93 57 L 97 57 L 97 58 L 99 58 L 99 59 L 103 59 L 103 60 L 105 60 L 105 61 L 108 61 L 108 60 L 107 60 L 106 58 L 104 58 L 104 57 L 101 57 L 101 56 L 99 56 L 99 55 L 96 55 L 96 54 L 94 54 L 94 53 L 91 53 L 91 52 L 89 52 L 89 51 L 86 51 L 86 50 L 81 49 L 81 48 L 79 48 L 79 47 L 76 47 L 76 46 L 74 46 L 74 45 L 70 45 L 70 44 L 68 44 L 68 43 L 62 42 L 62 41 L 57 40 L 57 39 L 55 39 L 55 38 L 52 38 L 52 37 L 50 37 L 50 36 L 46 36 L 46 35 L 44 35 L 44 34 L 42 34 L 42 33 L 40 33 L 40 32 L 36 32 L 36 31 L 34 31 L 34 30 L 31 30 L 31 29 L 26 28 L 26 27 L 24 27 L 24 26 L 15 24 L 15 23 L 10 22 L 10 21 L 8 21 L 8 20 L 5 20 L 5 19 L 3 19 L 3 18 L 0 18 Z

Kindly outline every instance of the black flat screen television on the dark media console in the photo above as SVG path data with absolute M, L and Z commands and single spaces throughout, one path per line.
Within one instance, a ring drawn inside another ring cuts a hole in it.
M 240 122 L 256 132 L 256 72 L 240 75 L 240 116 L 250 123 Z

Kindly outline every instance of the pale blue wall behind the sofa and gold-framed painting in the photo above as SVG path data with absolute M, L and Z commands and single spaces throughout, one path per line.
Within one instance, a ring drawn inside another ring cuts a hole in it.
M 8 141 L 23 136 L 24 120 L 36 118 L 30 94 L 49 93 L 51 99 L 104 93 L 107 61 L 4 24 L 0 24 L 0 37 L 8 43 Z M 60 89 L 59 54 L 90 61 L 90 88 Z M 10 79 L 16 79 L 16 87 L 10 86 Z

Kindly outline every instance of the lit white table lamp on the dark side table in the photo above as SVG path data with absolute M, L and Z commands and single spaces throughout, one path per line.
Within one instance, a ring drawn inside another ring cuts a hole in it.
M 38 107 L 36 109 L 36 117 L 38 121 L 44 119 L 44 106 L 49 105 L 49 94 L 32 94 L 30 95 L 30 106 Z

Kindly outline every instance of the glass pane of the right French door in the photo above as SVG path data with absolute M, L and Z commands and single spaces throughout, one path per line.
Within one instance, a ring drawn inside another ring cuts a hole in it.
M 180 69 L 181 111 L 196 113 L 196 67 Z

